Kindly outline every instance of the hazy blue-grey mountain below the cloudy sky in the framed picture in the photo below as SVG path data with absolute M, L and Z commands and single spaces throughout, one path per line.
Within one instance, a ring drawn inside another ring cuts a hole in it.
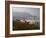
M 31 19 L 31 17 L 38 18 L 37 16 L 33 16 L 33 15 L 26 13 L 26 12 L 16 12 L 15 14 L 13 14 L 14 20 L 15 19 L 21 20 L 23 18 Z

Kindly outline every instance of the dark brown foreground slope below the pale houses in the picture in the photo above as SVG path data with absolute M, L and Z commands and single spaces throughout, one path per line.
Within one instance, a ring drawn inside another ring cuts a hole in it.
M 40 29 L 37 24 L 29 24 L 29 22 L 22 23 L 19 20 L 13 21 L 13 30 L 37 30 Z

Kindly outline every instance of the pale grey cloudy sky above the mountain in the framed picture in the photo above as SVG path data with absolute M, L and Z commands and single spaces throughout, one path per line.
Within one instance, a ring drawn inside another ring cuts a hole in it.
M 15 15 L 17 12 L 22 13 L 26 12 L 33 16 L 40 16 L 40 8 L 29 8 L 29 7 L 13 7 L 12 8 L 13 15 Z

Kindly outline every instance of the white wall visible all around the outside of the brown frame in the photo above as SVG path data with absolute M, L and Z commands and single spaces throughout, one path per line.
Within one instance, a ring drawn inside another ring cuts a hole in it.
M 22 1 L 22 0 L 20 0 L 20 1 Z M 45 0 L 23 0 L 23 1 L 44 2 L 45 3 Z M 5 36 L 5 3 L 4 2 L 5 2 L 4 0 L 0 0 L 0 38 L 4 38 L 4 36 Z M 46 16 L 46 13 L 45 13 L 45 16 Z M 46 25 L 46 23 L 45 23 L 45 25 Z M 13 37 L 11 37 L 11 38 L 13 38 Z M 46 38 L 46 35 L 26 36 L 26 37 L 24 36 L 24 37 L 16 37 L 16 38 Z

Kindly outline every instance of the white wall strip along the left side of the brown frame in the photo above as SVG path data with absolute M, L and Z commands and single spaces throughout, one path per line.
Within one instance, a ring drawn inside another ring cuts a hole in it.
M 0 38 L 5 35 L 5 0 L 0 0 Z

